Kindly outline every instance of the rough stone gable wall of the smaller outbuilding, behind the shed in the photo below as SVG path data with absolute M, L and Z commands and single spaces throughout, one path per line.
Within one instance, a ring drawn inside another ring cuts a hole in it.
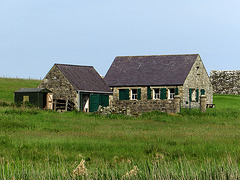
M 51 90 L 54 99 L 66 100 L 68 98 L 77 107 L 77 92 L 56 65 L 52 67 L 38 87 Z

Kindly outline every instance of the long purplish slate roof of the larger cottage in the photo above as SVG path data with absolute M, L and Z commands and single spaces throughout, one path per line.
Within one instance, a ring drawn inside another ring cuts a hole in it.
M 110 87 L 182 85 L 197 56 L 117 56 L 104 80 Z

